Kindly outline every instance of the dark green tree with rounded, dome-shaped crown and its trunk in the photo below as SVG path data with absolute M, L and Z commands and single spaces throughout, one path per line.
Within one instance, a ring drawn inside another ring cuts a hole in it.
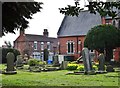
M 112 50 L 120 47 L 120 30 L 113 25 L 98 25 L 87 33 L 84 46 L 91 50 L 104 52 L 106 61 L 112 59 Z

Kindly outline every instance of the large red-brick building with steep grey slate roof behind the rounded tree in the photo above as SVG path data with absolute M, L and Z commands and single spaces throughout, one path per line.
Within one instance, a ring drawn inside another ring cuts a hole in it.
M 91 14 L 88 11 L 80 12 L 78 17 L 65 16 L 57 33 L 59 54 L 79 58 L 87 32 L 94 26 L 108 23 L 113 23 L 109 17 L 104 18 L 98 13 Z M 90 53 L 94 53 L 94 51 L 90 51 Z

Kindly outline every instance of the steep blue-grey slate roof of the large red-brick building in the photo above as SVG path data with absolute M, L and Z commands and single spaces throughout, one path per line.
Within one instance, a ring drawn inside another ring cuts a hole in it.
M 94 26 L 101 24 L 101 16 L 88 11 L 80 12 L 79 16 L 65 16 L 58 30 L 58 37 L 82 36 Z

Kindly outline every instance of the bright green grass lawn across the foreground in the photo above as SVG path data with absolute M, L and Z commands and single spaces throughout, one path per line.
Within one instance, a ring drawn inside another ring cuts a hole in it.
M 4 66 L 3 66 L 4 67 Z M 97 75 L 66 75 L 67 70 L 29 72 L 17 70 L 15 75 L 2 74 L 3 86 L 118 86 L 118 72 Z

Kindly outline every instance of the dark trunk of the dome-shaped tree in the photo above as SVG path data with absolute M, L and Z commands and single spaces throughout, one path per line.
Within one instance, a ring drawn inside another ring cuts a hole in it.
M 111 59 L 113 59 L 113 49 L 112 48 L 106 48 L 105 49 L 105 61 L 110 62 Z

